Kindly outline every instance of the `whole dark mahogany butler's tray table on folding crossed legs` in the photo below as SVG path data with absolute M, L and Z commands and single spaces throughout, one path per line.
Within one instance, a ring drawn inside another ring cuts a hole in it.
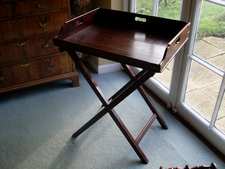
M 188 40 L 189 29 L 190 24 L 183 21 L 102 8 L 67 21 L 54 38 L 54 43 L 62 51 L 68 52 L 102 103 L 98 113 L 77 130 L 72 138 L 78 137 L 109 113 L 140 160 L 148 163 L 148 158 L 140 148 L 139 142 L 155 120 L 163 129 L 167 129 L 167 125 L 147 97 L 142 85 L 155 73 L 162 72 L 184 46 Z M 77 52 L 119 62 L 129 75 L 130 81 L 109 99 L 105 99 Z M 130 66 L 141 68 L 141 71 L 135 74 Z M 144 98 L 153 115 L 137 138 L 134 138 L 114 107 L 136 89 Z

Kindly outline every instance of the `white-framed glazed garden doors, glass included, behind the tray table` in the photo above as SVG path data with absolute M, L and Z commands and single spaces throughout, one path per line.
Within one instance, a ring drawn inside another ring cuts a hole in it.
M 147 85 L 225 154 L 225 1 L 136 0 L 136 11 L 191 22 L 181 57 Z

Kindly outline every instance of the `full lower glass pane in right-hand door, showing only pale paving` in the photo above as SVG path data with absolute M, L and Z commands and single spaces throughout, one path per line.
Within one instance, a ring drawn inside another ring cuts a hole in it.
M 185 103 L 210 121 L 222 77 L 192 61 Z

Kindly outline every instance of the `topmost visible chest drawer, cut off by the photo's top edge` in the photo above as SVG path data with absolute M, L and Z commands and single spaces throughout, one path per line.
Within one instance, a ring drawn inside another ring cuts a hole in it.
M 67 9 L 68 0 L 23 0 L 17 1 L 15 16 L 27 16 Z

